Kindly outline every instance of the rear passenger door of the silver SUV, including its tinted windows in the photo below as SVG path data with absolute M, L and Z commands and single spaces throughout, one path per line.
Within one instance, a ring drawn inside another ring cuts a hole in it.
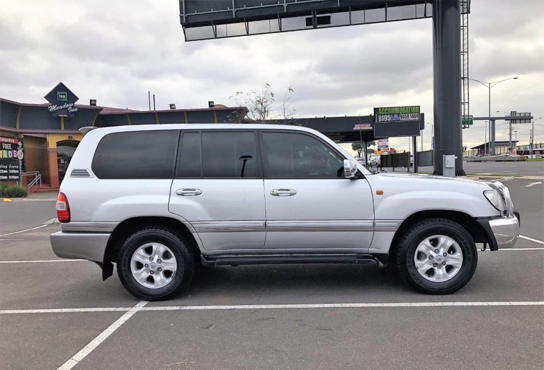
M 206 250 L 264 248 L 264 188 L 257 133 L 183 132 L 170 212 L 189 221 Z

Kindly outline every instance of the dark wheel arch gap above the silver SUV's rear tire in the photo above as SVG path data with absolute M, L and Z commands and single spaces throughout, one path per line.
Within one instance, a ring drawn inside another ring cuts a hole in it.
M 201 250 L 200 244 L 197 242 L 197 236 L 195 236 L 194 232 L 191 231 L 182 221 L 176 218 L 164 216 L 132 217 L 119 223 L 108 239 L 108 244 L 106 245 L 106 250 L 104 251 L 104 260 L 102 263 L 103 280 L 106 280 L 109 278 L 109 276 L 112 276 L 112 262 L 117 262 L 123 241 L 128 236 L 131 236 L 134 232 L 150 226 L 166 227 L 167 229 L 170 229 L 176 233 L 181 233 L 187 238 L 190 248 L 195 253 L 195 256 L 200 256 Z M 196 261 L 199 260 L 200 257 L 196 258 Z

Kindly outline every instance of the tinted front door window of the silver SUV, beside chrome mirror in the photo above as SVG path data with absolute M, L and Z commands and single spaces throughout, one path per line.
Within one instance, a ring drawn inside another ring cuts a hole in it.
M 263 132 L 272 178 L 336 178 L 344 176 L 344 159 L 309 135 Z

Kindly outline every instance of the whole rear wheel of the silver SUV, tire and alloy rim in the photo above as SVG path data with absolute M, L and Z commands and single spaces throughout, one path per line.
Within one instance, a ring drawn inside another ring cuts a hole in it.
M 193 253 L 184 238 L 154 227 L 128 237 L 118 261 L 121 283 L 144 300 L 174 297 L 189 285 L 195 270 Z

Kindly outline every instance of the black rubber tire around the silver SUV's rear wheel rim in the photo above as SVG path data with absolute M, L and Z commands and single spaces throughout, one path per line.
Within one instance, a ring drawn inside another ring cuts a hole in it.
M 134 252 L 143 244 L 156 242 L 168 246 L 176 257 L 176 273 L 174 278 L 160 288 L 147 288 L 134 279 L 131 272 L 131 258 Z M 117 263 L 117 273 L 123 286 L 134 297 L 147 301 L 170 299 L 186 288 L 193 279 L 195 257 L 189 243 L 183 236 L 174 231 L 160 227 L 141 229 L 129 236 L 123 243 Z

